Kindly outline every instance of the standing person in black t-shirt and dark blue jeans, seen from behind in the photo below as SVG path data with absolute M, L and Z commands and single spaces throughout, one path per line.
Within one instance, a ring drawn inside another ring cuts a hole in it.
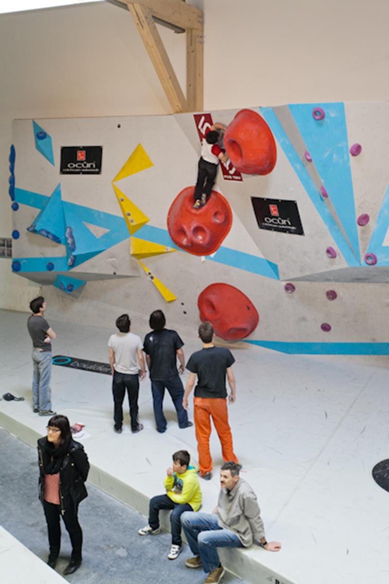
M 184 386 L 177 370 L 177 357 L 180 361 L 180 373 L 184 373 L 185 370 L 184 352 L 181 348 L 184 343 L 176 331 L 164 328 L 165 324 L 166 319 L 162 310 L 152 312 L 149 325 L 153 332 L 149 332 L 143 342 L 151 379 L 155 422 L 160 433 L 165 432 L 167 427 L 162 409 L 165 388 L 169 391 L 176 408 L 178 426 L 180 428 L 193 426 L 193 423 L 188 421 L 187 411 L 183 408 Z

